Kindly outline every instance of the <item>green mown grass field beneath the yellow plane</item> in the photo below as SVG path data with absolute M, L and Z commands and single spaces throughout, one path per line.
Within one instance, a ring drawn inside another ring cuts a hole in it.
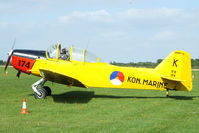
M 199 71 L 193 91 L 165 92 L 66 87 L 51 82 L 52 96 L 33 97 L 39 78 L 0 68 L 0 133 L 196 133 Z M 29 114 L 21 115 L 23 98 Z

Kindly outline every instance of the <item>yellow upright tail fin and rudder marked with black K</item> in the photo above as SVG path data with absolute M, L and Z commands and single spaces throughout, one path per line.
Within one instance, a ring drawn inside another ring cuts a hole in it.
M 163 79 L 175 81 L 176 90 L 192 90 L 191 56 L 185 51 L 172 52 L 155 68 L 155 72 Z

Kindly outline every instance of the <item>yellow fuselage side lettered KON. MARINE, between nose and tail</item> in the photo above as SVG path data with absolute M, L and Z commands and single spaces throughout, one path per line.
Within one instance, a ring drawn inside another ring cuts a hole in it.
M 175 85 L 172 81 L 165 82 L 160 75 L 152 69 L 118 67 L 108 63 L 83 63 L 38 59 L 31 70 L 32 74 L 42 76 L 39 70 L 40 68 L 46 68 L 49 71 L 78 79 L 86 87 L 164 90 L 166 88 L 173 88 Z M 115 83 L 114 81 L 111 82 L 111 74 L 114 72 L 116 74 L 117 72 L 123 74 L 124 80 L 120 82 L 119 78 L 116 79 L 118 77 L 116 75 Z M 119 83 L 117 83 L 117 80 Z M 66 82 L 61 83 L 70 85 Z

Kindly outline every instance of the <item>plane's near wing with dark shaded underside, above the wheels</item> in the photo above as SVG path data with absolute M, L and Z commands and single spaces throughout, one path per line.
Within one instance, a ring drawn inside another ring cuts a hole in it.
M 52 69 L 39 69 L 43 78 L 48 81 L 65 84 L 69 86 L 77 86 L 87 88 L 86 85 L 81 83 L 79 80 L 72 78 L 64 73 L 54 71 Z

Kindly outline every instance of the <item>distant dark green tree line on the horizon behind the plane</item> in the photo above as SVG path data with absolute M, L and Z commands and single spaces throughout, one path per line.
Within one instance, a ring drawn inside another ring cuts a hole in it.
M 155 68 L 163 59 L 158 59 L 156 62 L 129 62 L 129 63 L 120 63 L 120 62 L 111 62 L 112 65 L 117 66 L 129 66 L 129 67 L 147 67 L 147 68 Z M 0 65 L 5 65 L 6 61 L 0 60 Z M 199 59 L 191 59 L 191 66 L 193 69 L 199 69 Z

